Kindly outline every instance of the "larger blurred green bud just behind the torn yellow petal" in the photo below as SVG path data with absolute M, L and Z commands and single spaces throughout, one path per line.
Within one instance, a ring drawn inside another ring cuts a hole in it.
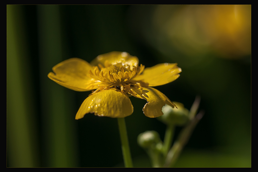
M 187 110 L 182 103 L 175 102 L 173 103 L 177 106 L 177 108 L 173 108 L 169 105 L 165 105 L 162 108 L 162 112 L 164 115 L 158 117 L 158 119 L 164 122 L 167 125 L 177 125 L 184 126 L 189 122 L 189 110 Z

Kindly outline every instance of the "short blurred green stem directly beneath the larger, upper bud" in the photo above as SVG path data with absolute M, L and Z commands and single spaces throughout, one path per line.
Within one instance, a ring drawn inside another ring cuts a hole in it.
M 171 143 L 173 140 L 174 136 L 174 131 L 175 131 L 175 126 L 174 125 L 168 125 L 166 132 L 165 132 L 165 138 L 164 138 L 164 146 L 163 146 L 163 155 L 166 157 L 167 153 L 171 147 Z

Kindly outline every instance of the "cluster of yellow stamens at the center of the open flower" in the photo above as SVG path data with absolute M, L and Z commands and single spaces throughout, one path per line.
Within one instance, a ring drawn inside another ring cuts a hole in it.
M 142 89 L 142 87 L 148 86 L 147 83 L 133 80 L 133 78 L 140 75 L 143 70 L 144 66 L 142 64 L 138 67 L 131 67 L 122 63 L 107 64 L 105 62 L 105 67 L 99 64 L 98 67 L 93 67 L 93 70 L 90 70 L 89 74 L 87 75 L 88 77 L 96 79 L 101 83 L 98 85 L 99 88 L 91 94 L 95 94 L 98 91 L 107 90 L 110 88 L 116 88 L 123 93 L 136 94 L 131 87 L 135 86 Z

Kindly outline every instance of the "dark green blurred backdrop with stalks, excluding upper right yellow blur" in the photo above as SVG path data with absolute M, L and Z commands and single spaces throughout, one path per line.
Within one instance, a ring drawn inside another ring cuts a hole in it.
M 150 42 L 155 7 L 7 5 L 7 167 L 123 167 L 117 120 L 93 114 L 75 120 L 90 92 L 47 77 L 63 60 L 90 62 L 111 51 L 137 56 L 145 67 L 177 62 L 181 76 L 155 88 L 187 109 L 201 96 L 205 115 L 176 167 L 251 167 L 251 53 L 209 52 L 197 61 L 175 47 L 163 54 Z M 134 113 L 125 120 L 134 166 L 150 167 L 136 138 L 156 130 L 163 139 L 166 126 L 144 116 L 145 100 L 130 99 Z

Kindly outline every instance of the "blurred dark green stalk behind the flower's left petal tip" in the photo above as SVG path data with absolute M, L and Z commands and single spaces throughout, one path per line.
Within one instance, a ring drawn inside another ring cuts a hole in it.
M 38 29 L 44 166 L 76 167 L 74 101 L 67 88 L 47 77 L 52 67 L 63 61 L 59 5 L 38 5 Z

